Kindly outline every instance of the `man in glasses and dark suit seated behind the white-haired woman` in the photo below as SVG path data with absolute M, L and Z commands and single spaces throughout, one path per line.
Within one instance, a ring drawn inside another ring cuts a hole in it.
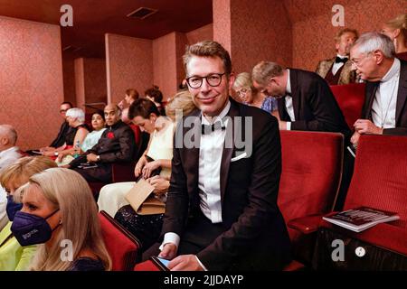
M 63 144 L 72 145 L 73 138 L 75 137 L 76 130 L 68 124 L 66 120 L 66 112 L 68 109 L 71 109 L 73 106 L 71 102 L 65 101 L 62 102 L 60 107 L 60 115 L 63 118 L 63 123 L 61 125 L 60 131 L 55 139 L 52 141 L 50 146 L 41 148 L 42 152 L 53 152 L 57 147 L 62 146 Z

